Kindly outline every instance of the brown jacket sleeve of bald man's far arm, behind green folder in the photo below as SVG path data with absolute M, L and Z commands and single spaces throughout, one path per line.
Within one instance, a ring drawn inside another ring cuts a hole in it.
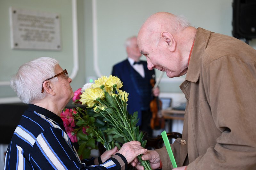
M 170 144 L 177 166 L 179 166 L 179 161 L 180 161 L 180 141 L 181 141 L 181 138 L 178 138 L 174 141 L 173 144 Z M 166 169 L 166 170 L 172 169 L 173 168 L 172 162 L 170 160 L 166 147 L 164 146 L 161 149 L 156 149 L 155 151 L 159 154 L 160 160 L 162 161 L 162 164 L 163 164 L 162 169 Z

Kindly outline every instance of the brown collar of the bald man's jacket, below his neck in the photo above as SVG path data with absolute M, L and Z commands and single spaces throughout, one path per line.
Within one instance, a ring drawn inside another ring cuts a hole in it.
M 196 83 L 199 79 L 201 57 L 207 47 L 211 31 L 198 27 L 192 49 L 186 80 Z

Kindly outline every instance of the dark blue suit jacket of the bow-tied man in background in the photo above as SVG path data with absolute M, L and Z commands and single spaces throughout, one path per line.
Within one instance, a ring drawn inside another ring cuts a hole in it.
M 145 71 L 145 78 L 141 78 L 141 81 L 148 82 L 145 88 L 150 89 L 151 91 L 152 86 L 150 85 L 150 79 L 152 75 L 155 74 L 155 70 L 148 70 L 147 62 L 142 61 L 144 71 Z M 129 114 L 133 114 L 135 111 L 138 111 L 138 117 L 140 118 L 138 125 L 141 125 L 141 103 L 143 101 L 140 89 L 138 88 L 138 82 L 135 79 L 134 73 L 136 70 L 133 69 L 131 64 L 129 63 L 128 59 L 117 63 L 113 66 L 112 75 L 117 76 L 123 82 L 123 87 L 121 88 L 123 91 L 128 92 L 128 102 L 127 102 L 127 110 Z M 148 98 L 152 99 L 152 94 L 149 93 Z M 148 109 L 149 109 L 148 103 Z

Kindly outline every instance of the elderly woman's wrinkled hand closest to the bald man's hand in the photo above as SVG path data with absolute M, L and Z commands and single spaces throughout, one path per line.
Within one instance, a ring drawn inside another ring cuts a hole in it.
M 145 152 L 147 149 L 144 149 L 139 141 L 131 141 L 125 143 L 117 153 L 124 155 L 129 164 L 134 158 Z

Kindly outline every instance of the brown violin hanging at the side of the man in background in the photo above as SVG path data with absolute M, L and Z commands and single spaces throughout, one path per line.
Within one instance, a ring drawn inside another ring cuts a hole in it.
M 153 87 L 153 90 L 157 87 L 155 79 L 150 79 L 150 84 Z M 152 91 L 153 91 L 152 90 Z M 150 102 L 150 111 L 152 112 L 152 118 L 150 120 L 150 127 L 151 129 L 164 129 L 164 118 L 159 118 L 158 113 L 162 109 L 162 101 L 157 97 L 154 97 L 153 100 Z

